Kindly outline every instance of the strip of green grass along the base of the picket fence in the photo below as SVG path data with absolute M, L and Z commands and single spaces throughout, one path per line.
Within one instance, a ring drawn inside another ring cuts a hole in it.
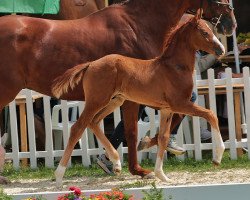
M 164 170 L 170 171 L 187 171 L 187 172 L 204 172 L 204 171 L 214 171 L 222 169 L 250 169 L 250 160 L 248 160 L 247 155 L 243 155 L 238 160 L 231 160 L 230 155 L 225 152 L 222 164 L 214 168 L 211 163 L 212 155 L 211 153 L 206 153 L 203 155 L 202 161 L 195 161 L 194 159 L 185 159 L 180 161 L 175 157 L 171 157 L 164 164 Z M 151 160 L 144 160 L 142 162 L 142 167 L 147 169 L 154 169 L 154 163 Z M 21 168 L 20 170 L 15 170 L 12 164 L 6 164 L 3 172 L 3 176 L 8 177 L 10 180 L 17 179 L 53 179 L 54 170 L 40 166 L 38 169 Z M 128 173 L 128 165 L 125 163 L 122 169 L 123 173 Z M 71 177 L 106 177 L 106 175 L 96 164 L 91 167 L 83 167 L 81 164 L 73 164 L 72 167 L 68 168 L 65 173 L 65 178 Z M 138 183 L 140 184 L 140 183 Z

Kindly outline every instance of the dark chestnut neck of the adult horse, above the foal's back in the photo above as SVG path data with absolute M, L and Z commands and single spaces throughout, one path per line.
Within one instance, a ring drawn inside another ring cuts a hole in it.
M 162 51 L 166 34 L 178 24 L 190 3 L 189 0 L 130 0 L 123 6 L 132 29 L 142 37 L 145 34 L 145 39 L 153 39 Z

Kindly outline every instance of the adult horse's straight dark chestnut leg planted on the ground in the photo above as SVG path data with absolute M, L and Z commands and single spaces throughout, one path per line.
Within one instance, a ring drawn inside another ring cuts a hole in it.
M 137 161 L 137 121 L 139 105 L 133 102 L 125 101 L 122 106 L 123 121 L 125 128 L 125 137 L 128 145 L 128 163 L 129 171 L 133 175 L 141 177 L 152 177 L 150 170 L 143 169 Z

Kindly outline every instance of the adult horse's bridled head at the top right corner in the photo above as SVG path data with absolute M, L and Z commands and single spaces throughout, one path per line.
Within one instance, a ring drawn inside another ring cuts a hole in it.
M 203 8 L 203 18 L 214 24 L 218 33 L 232 35 L 237 27 L 237 23 L 233 12 L 234 9 L 229 3 L 229 0 L 190 1 L 193 8 Z

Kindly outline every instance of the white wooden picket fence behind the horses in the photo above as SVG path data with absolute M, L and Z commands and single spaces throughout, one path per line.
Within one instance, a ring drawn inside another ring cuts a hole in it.
M 250 81 L 249 81 L 249 69 L 244 68 L 243 78 L 231 78 L 232 72 L 231 69 L 226 69 L 226 78 L 224 79 L 215 79 L 214 71 L 212 69 L 208 70 L 208 79 L 207 80 L 195 80 L 194 81 L 194 91 L 197 92 L 198 86 L 209 86 L 209 102 L 210 109 L 212 109 L 215 113 L 217 112 L 216 108 L 216 95 L 215 95 L 215 86 L 218 85 L 226 85 L 227 91 L 227 109 L 228 109 L 228 122 L 229 122 L 229 141 L 225 142 L 225 146 L 227 149 L 230 149 L 230 156 L 232 159 L 237 159 L 237 148 L 250 147 L 250 134 L 247 135 L 247 139 L 244 141 L 236 141 L 236 131 L 235 131 L 235 112 L 234 112 L 234 96 L 233 96 L 233 84 L 244 84 L 244 108 L 245 108 L 245 119 L 246 119 L 246 127 L 247 132 L 250 132 Z M 178 92 L 178 91 L 177 91 Z M 53 112 L 58 112 L 61 109 L 62 113 L 62 123 L 60 127 L 55 128 L 53 124 L 56 119 L 52 119 L 52 113 L 50 110 L 50 97 L 43 96 L 44 103 L 44 117 L 45 117 L 45 151 L 37 151 L 36 150 L 36 140 L 35 140 L 35 125 L 34 125 L 34 113 L 33 113 L 33 100 L 32 95 L 36 94 L 36 92 L 31 90 L 22 90 L 20 94 L 26 96 L 26 109 L 27 109 L 27 131 L 28 131 L 28 152 L 21 152 L 19 149 L 19 140 L 20 134 L 18 133 L 17 128 L 17 113 L 16 113 L 16 103 L 15 101 L 9 104 L 10 109 L 10 128 L 11 128 L 11 145 L 12 152 L 8 152 L 6 157 L 13 160 L 13 165 L 15 168 L 20 167 L 20 159 L 29 158 L 30 159 L 30 167 L 37 167 L 37 159 L 45 158 L 45 165 L 47 167 L 54 167 L 55 165 L 55 157 L 60 157 L 63 154 L 63 150 L 55 150 L 55 135 L 59 134 L 63 138 L 64 147 L 67 144 L 69 133 L 70 133 L 70 125 L 72 123 L 69 122 L 68 112 L 69 107 L 75 105 L 76 102 L 70 103 L 67 101 L 61 101 L 61 105 L 57 106 L 53 110 Z M 77 102 L 76 103 L 80 112 L 83 110 L 84 103 Z M 157 119 L 155 118 L 155 112 L 152 109 L 149 109 L 149 122 L 139 121 L 139 138 L 145 135 L 145 131 L 150 130 L 150 135 L 154 136 L 157 129 Z M 114 126 L 116 126 L 121 119 L 120 110 L 117 109 L 114 112 Z M 183 146 L 188 150 L 188 156 L 195 156 L 196 160 L 202 159 L 202 151 L 203 150 L 213 150 L 213 143 L 201 143 L 200 139 L 200 120 L 198 117 L 193 117 L 193 131 L 191 131 L 188 120 L 184 120 L 182 126 L 180 126 L 178 130 L 177 142 L 180 146 Z M 249 125 L 249 126 L 247 126 Z M 102 128 L 104 125 L 102 123 Z M 61 130 L 60 130 L 61 129 Z M 193 132 L 193 133 L 192 133 Z M 54 134 L 54 135 L 53 135 Z M 192 136 L 193 135 L 193 136 Z M 212 134 L 213 135 L 213 134 Z M 191 139 L 193 138 L 193 139 Z M 185 139 L 185 142 L 184 142 Z M 57 140 L 60 142 L 60 137 L 57 137 Z M 56 141 L 57 141 L 56 140 Z M 89 146 L 92 141 L 91 147 Z M 213 141 L 213 140 L 212 140 Z M 58 142 L 58 141 L 57 141 Z M 75 149 L 73 151 L 72 156 L 81 156 L 82 164 L 84 166 L 91 165 L 91 156 L 99 155 L 104 152 L 103 147 L 98 144 L 98 147 L 93 146 L 93 138 L 91 134 L 87 133 L 87 130 L 83 134 L 80 140 L 80 148 Z M 123 154 L 127 153 L 127 147 L 119 147 L 118 152 L 121 156 L 121 160 L 123 161 Z M 156 152 L 156 148 L 152 148 L 148 150 L 149 156 L 152 158 L 152 155 Z M 139 161 L 145 153 L 139 153 Z M 250 154 L 248 154 L 250 159 Z M 181 156 L 180 159 L 184 159 L 184 156 Z M 71 161 L 69 165 L 71 164 Z

